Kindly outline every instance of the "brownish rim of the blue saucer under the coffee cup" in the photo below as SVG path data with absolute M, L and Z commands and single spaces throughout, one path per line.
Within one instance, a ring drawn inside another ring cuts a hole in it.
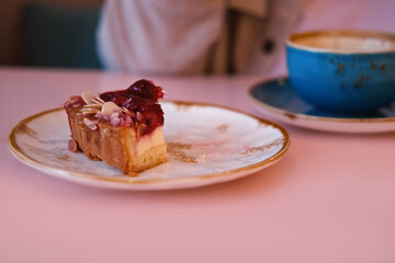
M 336 123 L 392 123 L 395 122 L 395 117 L 373 117 L 373 118 L 345 118 L 345 117 L 324 117 L 313 114 L 303 114 L 303 113 L 296 113 L 291 112 L 281 107 L 275 107 L 270 104 L 267 104 L 256 98 L 253 95 L 253 91 L 257 89 L 262 89 L 267 83 L 275 82 L 279 84 L 281 81 L 287 81 L 287 77 L 278 77 L 278 78 L 271 78 L 264 81 L 260 81 L 256 84 L 252 84 L 251 88 L 248 90 L 248 94 L 250 100 L 261 108 L 266 108 L 267 111 L 270 111 L 272 113 L 281 114 L 283 116 L 286 116 L 290 119 L 295 118 L 304 118 L 308 121 L 325 121 L 325 122 L 336 122 Z M 309 103 L 305 102 L 306 104 L 311 105 Z

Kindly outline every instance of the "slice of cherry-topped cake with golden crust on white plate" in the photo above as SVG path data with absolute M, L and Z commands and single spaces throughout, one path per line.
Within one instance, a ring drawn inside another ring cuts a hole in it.
M 163 90 L 144 79 L 126 90 L 71 96 L 64 104 L 71 130 L 69 149 L 80 149 L 89 159 L 103 160 L 128 175 L 168 161 L 161 98 Z

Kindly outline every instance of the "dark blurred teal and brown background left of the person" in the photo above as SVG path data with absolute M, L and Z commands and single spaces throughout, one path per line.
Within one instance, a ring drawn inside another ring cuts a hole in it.
M 0 0 L 0 66 L 101 68 L 94 31 L 102 2 Z

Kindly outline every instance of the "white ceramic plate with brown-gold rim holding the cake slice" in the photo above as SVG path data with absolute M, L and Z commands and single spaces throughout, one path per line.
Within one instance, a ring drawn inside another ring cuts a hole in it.
M 132 178 L 67 148 L 70 132 L 61 108 L 20 122 L 8 146 L 23 163 L 91 186 L 169 190 L 221 183 L 267 168 L 285 153 L 286 130 L 278 124 L 210 104 L 161 102 L 169 162 Z

